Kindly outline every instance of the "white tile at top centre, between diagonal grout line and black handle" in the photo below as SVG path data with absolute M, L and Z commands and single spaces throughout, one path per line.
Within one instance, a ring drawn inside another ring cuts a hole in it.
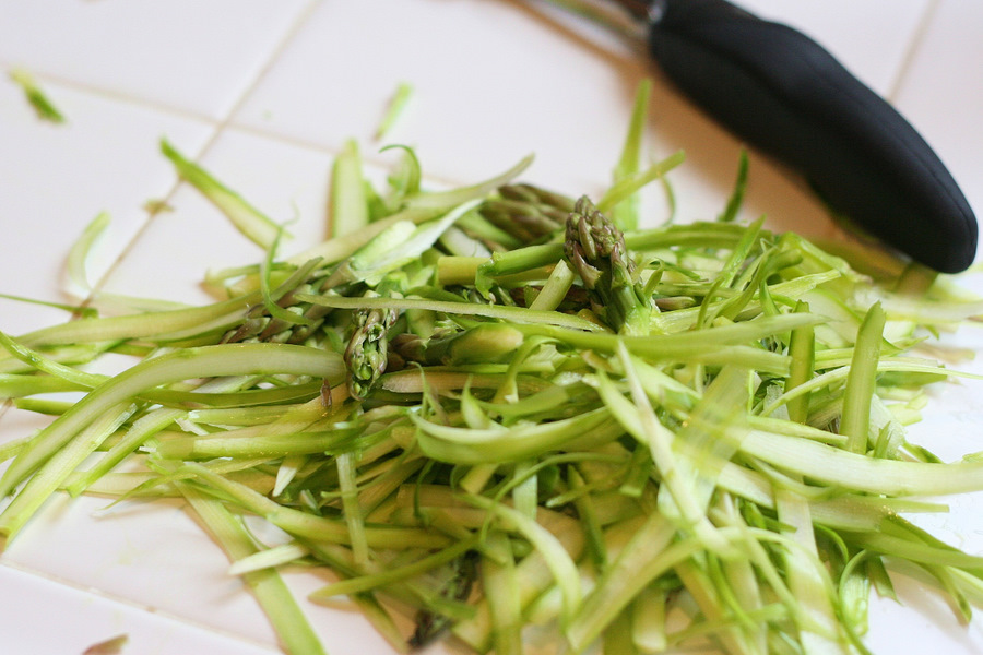
M 643 74 L 624 48 L 597 49 L 518 2 L 324 2 L 234 121 L 330 148 L 368 142 L 410 82 L 391 141 L 416 146 L 431 175 L 475 179 L 534 152 L 542 183 L 595 187 L 624 128 L 607 117 Z

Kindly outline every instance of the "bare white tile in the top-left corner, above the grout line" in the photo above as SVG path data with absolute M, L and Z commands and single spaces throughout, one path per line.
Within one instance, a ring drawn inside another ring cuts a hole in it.
M 223 118 L 308 0 L 4 0 L 0 62 Z

